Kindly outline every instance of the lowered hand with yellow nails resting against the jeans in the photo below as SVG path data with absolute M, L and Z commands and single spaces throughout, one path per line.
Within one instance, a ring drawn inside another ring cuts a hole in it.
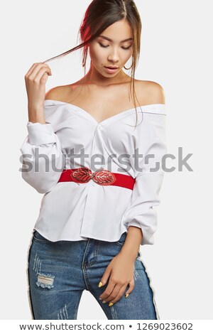
M 126 286 L 129 284 L 127 293 L 131 293 L 134 287 L 134 262 L 135 259 L 126 259 L 126 255 L 122 252 L 117 254 L 107 266 L 107 269 L 102 276 L 102 286 L 107 283 L 107 289 L 99 296 L 107 303 L 116 303 L 124 295 Z

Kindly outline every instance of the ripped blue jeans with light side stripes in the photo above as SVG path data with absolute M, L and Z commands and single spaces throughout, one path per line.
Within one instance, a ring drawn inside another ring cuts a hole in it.
M 50 242 L 33 232 L 28 253 L 28 298 L 33 320 L 77 319 L 77 310 L 84 290 L 92 293 L 107 319 L 159 319 L 154 290 L 141 260 L 135 261 L 134 288 L 109 306 L 99 296 L 107 284 L 98 286 L 109 262 L 121 251 L 126 232 L 116 242 L 97 239 Z M 95 314 L 94 314 L 95 318 Z

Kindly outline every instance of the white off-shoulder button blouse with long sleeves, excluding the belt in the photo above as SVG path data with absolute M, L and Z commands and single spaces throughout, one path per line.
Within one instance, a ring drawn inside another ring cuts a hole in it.
M 154 244 L 154 207 L 160 204 L 167 153 L 165 104 L 125 110 L 100 123 L 74 104 L 51 99 L 44 113 L 46 124 L 28 122 L 20 149 L 23 179 L 44 194 L 33 230 L 52 242 L 115 242 L 136 226 L 143 232 L 141 245 Z M 132 176 L 133 190 L 92 179 L 58 182 L 63 170 L 84 166 Z

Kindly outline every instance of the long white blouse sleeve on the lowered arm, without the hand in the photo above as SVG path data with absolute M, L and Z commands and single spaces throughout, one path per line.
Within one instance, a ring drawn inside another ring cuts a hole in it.
M 138 142 L 138 166 L 136 183 L 133 188 L 131 205 L 124 215 L 124 224 L 140 227 L 143 232 L 143 244 L 154 244 L 153 234 L 157 229 L 157 212 L 155 206 L 160 204 L 159 192 L 163 183 L 165 162 L 162 157 L 167 153 L 166 147 L 166 115 L 144 113 L 143 126 Z M 154 156 L 149 158 L 148 154 Z M 148 160 L 147 160 L 148 159 Z M 159 165 L 159 166 L 158 166 Z M 157 171 L 152 168 L 158 166 Z

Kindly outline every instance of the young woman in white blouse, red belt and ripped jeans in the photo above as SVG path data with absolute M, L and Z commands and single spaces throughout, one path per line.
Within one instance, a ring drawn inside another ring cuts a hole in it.
M 134 79 L 141 20 L 132 0 L 92 1 L 80 34 L 67 53 L 83 47 L 84 67 L 89 50 L 82 79 L 45 94 L 49 60 L 25 76 L 22 176 L 44 194 L 28 254 L 32 316 L 77 319 L 87 290 L 108 319 L 159 319 L 139 249 L 154 243 L 157 226 L 163 88 Z

